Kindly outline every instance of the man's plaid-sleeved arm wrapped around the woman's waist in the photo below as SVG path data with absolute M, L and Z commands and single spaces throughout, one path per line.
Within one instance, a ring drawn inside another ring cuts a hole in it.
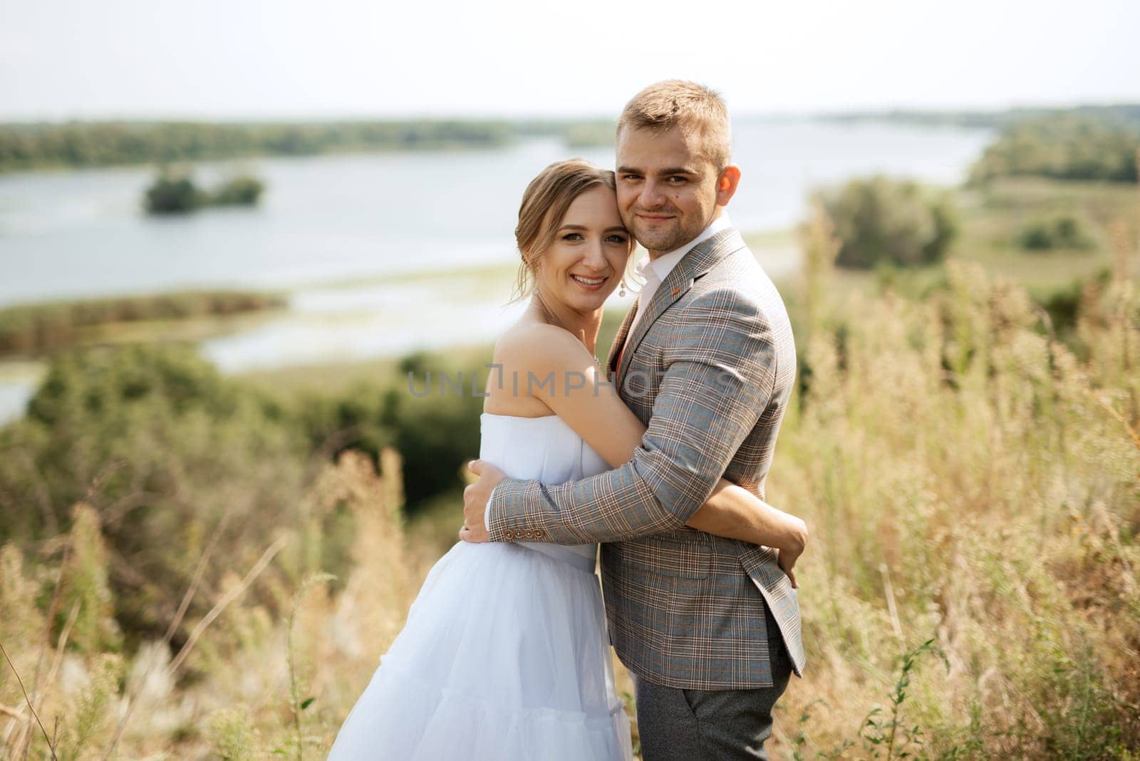
M 665 375 L 633 459 L 559 485 L 502 481 L 487 504 L 491 541 L 633 539 L 678 529 L 705 504 L 767 406 L 774 336 L 758 306 L 731 289 L 702 294 L 673 327 Z

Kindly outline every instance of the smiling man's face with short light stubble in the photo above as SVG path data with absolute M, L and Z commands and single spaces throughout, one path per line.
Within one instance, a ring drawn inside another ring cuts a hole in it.
M 679 248 L 712 221 L 719 173 L 699 134 L 627 126 L 617 164 L 622 221 L 651 256 Z

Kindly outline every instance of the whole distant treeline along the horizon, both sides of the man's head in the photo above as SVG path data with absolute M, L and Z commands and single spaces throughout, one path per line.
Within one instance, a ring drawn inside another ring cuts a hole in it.
M 787 117 L 755 115 L 739 118 L 746 122 L 788 121 Z M 1008 167 L 1000 172 L 1075 179 L 1135 178 L 1134 161 L 1125 162 L 1122 157 L 1130 141 L 1140 134 L 1140 104 L 997 112 L 898 109 L 824 114 L 792 121 L 803 120 L 994 129 L 1001 132 L 999 142 L 1007 144 L 997 149 L 1005 157 L 1003 166 Z M 557 138 L 570 149 L 577 149 L 610 146 L 613 131 L 614 122 L 609 118 L 11 123 L 0 124 L 0 172 L 339 152 L 479 149 L 535 137 Z M 1012 153 L 1011 141 L 1018 146 Z M 1029 144 L 1051 147 L 1026 149 Z M 1058 158 L 1059 153 L 1069 158 Z M 1013 154 L 1017 158 L 1009 158 Z M 1050 157 L 1044 157 L 1045 154 Z M 1085 154 L 1093 158 L 1090 161 Z

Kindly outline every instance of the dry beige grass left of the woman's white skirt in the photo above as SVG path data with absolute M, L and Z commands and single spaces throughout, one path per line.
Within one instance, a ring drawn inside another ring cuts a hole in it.
M 323 576 L 298 590 L 275 590 L 292 596 L 292 615 L 275 620 L 244 602 L 263 567 L 254 565 L 245 578 L 231 575 L 177 655 L 169 643 L 156 641 L 127 656 L 98 638 L 114 622 L 90 508 L 78 507 L 82 517 L 66 538 L 75 549 L 62 564 L 5 547 L 0 641 L 28 685 L 30 703 L 58 756 L 108 758 L 116 735 L 116 758 L 263 758 L 275 751 L 317 758 L 327 748 L 399 631 L 423 572 L 406 559 L 399 480 L 392 475 L 398 457 L 388 451 L 384 460 L 381 476 L 366 456 L 345 452 L 307 496 L 312 514 L 345 506 L 352 513 L 352 570 L 337 594 L 329 594 Z M 262 558 L 270 562 L 300 530 L 284 527 L 276 541 L 266 542 Z M 44 638 L 52 629 L 36 599 L 44 576 L 84 590 L 78 620 L 65 627 L 70 640 Z M 85 630 L 95 633 L 81 639 Z M 40 672 L 41 658 L 58 665 L 33 687 L 28 679 Z M 0 677 L 0 758 L 51 754 L 7 664 Z

